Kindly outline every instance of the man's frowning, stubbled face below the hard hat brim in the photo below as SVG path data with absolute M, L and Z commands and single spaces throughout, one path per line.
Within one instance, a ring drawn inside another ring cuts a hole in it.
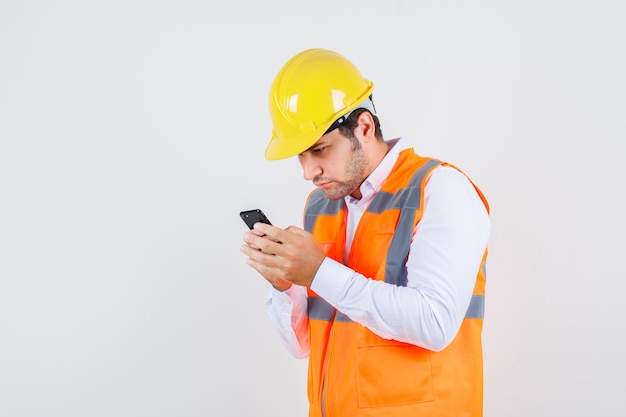
M 325 134 L 313 146 L 298 155 L 304 179 L 324 190 L 331 200 L 349 194 L 360 198 L 359 187 L 366 177 L 365 151 L 353 149 L 350 139 L 339 129 Z

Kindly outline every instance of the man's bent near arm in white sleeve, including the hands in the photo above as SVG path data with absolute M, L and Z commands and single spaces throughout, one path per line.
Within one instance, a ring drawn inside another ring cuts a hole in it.
M 312 236 L 293 226 L 257 223 L 244 236 L 242 252 L 270 283 L 310 286 L 383 338 L 441 350 L 463 321 L 491 225 L 473 185 L 454 168 L 435 169 L 424 192 L 406 287 L 373 281 L 325 258 Z

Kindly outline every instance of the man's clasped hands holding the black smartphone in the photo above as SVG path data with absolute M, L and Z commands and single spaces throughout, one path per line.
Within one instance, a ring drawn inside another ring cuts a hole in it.
M 243 240 L 248 265 L 279 291 L 291 284 L 310 286 L 326 257 L 313 236 L 295 226 L 283 230 L 257 223 Z

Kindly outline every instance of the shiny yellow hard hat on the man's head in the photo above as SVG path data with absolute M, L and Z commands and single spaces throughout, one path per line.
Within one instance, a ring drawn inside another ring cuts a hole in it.
M 368 99 L 374 83 L 343 55 L 308 49 L 291 58 L 270 89 L 272 138 L 267 159 L 283 159 L 304 152 L 333 122 Z

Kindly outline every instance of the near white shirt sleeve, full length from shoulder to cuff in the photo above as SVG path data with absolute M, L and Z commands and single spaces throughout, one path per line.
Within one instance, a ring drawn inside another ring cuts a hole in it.
M 326 258 L 311 289 L 380 337 L 438 351 L 454 339 L 465 317 L 490 230 L 472 183 L 441 166 L 424 189 L 406 287 L 368 279 Z

